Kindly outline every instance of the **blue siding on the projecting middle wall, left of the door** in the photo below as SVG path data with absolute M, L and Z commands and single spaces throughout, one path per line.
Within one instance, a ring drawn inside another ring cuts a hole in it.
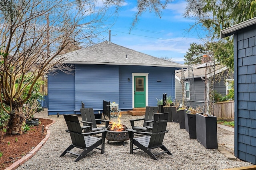
M 118 65 L 76 65 L 76 110 L 85 107 L 103 110 L 103 100 L 119 103 Z

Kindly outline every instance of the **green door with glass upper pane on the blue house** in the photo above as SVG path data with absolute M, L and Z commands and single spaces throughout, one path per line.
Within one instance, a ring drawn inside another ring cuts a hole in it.
M 134 76 L 134 107 L 146 107 L 146 77 Z

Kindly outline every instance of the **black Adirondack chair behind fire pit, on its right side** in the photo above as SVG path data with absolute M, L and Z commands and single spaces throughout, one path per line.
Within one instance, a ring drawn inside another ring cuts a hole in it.
M 141 131 L 141 132 L 146 132 L 146 130 L 147 130 L 146 127 L 152 127 L 153 118 L 154 118 L 155 113 L 158 113 L 158 107 L 147 106 L 144 118 L 130 120 L 132 129 L 133 130 L 138 130 L 138 131 Z M 143 127 L 134 126 L 135 121 L 144 121 Z

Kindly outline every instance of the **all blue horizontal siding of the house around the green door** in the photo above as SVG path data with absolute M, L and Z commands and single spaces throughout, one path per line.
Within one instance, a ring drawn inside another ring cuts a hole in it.
M 76 64 L 73 74 L 49 76 L 49 115 L 80 114 L 81 102 L 102 112 L 103 100 L 119 103 L 121 110 L 132 109 L 132 73 L 148 73 L 149 106 L 156 106 L 163 93 L 174 95 L 174 68 Z

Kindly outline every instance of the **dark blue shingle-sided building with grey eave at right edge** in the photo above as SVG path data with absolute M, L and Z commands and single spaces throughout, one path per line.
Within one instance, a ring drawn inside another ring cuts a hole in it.
M 256 17 L 221 31 L 234 34 L 234 153 L 256 164 Z

